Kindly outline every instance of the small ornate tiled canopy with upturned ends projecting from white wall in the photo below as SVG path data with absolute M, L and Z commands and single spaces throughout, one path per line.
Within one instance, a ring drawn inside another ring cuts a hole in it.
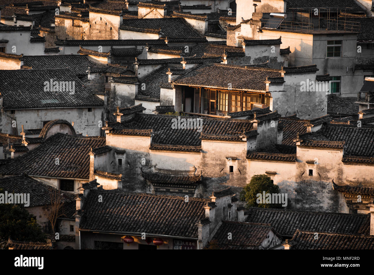
M 147 179 L 152 183 L 198 184 L 201 182 L 201 174 L 196 176 L 194 172 L 153 172 L 142 169 L 141 174 L 144 179 Z

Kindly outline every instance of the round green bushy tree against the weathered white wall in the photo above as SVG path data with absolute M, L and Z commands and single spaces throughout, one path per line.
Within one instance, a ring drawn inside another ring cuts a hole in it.
M 254 175 L 251 178 L 251 181 L 243 188 L 240 192 L 239 198 L 241 201 L 246 201 L 246 208 L 249 207 L 262 207 L 262 208 L 282 208 L 282 204 L 273 204 L 273 203 L 262 203 L 262 199 L 260 200 L 261 203 L 257 203 L 257 198 L 259 198 L 258 194 L 263 196 L 263 192 L 265 194 L 279 194 L 279 186 L 275 185 L 272 182 L 272 179 L 265 175 Z

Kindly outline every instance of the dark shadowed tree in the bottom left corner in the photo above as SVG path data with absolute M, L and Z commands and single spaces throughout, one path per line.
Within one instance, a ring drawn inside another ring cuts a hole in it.
M 1 193 L 1 190 L 0 190 Z M 0 247 L 8 238 L 16 241 L 45 242 L 46 235 L 23 205 L 0 204 Z

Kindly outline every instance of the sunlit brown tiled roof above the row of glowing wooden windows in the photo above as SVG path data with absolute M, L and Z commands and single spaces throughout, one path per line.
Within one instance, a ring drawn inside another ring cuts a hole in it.
M 266 90 L 266 78 L 281 78 L 281 70 L 235 65 L 205 64 L 172 80 L 175 84 L 210 86 L 233 90 Z

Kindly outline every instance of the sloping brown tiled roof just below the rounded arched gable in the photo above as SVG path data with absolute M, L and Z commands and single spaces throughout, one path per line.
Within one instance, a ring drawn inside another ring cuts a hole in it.
M 0 174 L 89 178 L 91 148 L 105 145 L 105 137 L 70 136 L 57 133 L 26 154 L 0 166 Z M 56 165 L 56 158 L 59 164 Z

